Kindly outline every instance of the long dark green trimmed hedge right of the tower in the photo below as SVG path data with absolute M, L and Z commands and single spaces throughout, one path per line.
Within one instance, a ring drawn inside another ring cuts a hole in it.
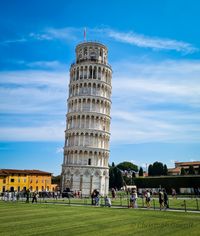
M 170 191 L 175 188 L 198 188 L 200 187 L 200 175 L 196 176 L 156 176 L 134 178 L 137 188 L 165 188 Z

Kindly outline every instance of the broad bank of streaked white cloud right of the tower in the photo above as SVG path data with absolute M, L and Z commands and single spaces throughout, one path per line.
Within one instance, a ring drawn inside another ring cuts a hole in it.
M 122 62 L 115 68 L 111 142 L 200 141 L 199 61 Z

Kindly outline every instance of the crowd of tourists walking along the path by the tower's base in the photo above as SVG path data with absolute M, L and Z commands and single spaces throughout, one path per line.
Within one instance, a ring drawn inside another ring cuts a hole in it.
M 73 195 L 73 198 L 82 198 L 81 195 L 81 191 L 74 191 L 71 192 Z M 100 192 L 97 189 L 94 189 L 91 193 L 91 204 L 93 206 L 99 206 L 99 205 L 104 205 L 107 207 L 111 207 L 112 206 L 112 201 L 117 200 L 117 196 L 119 199 L 119 194 L 117 194 L 117 190 L 115 188 L 111 189 L 111 195 L 110 197 L 107 196 L 101 196 Z M 128 207 L 129 208 L 137 208 L 138 204 L 137 204 L 137 200 L 138 200 L 138 196 L 141 197 L 143 200 L 143 206 L 144 204 L 146 205 L 146 208 L 151 208 L 152 207 L 152 200 L 154 201 L 154 207 L 155 207 L 155 199 L 158 199 L 159 202 L 159 208 L 160 210 L 163 209 L 167 209 L 169 208 L 169 199 L 168 199 L 168 194 L 166 192 L 165 189 L 159 189 L 158 192 L 153 192 L 151 189 L 143 189 L 142 192 L 138 192 L 136 187 L 135 188 L 131 188 L 127 190 L 127 200 L 129 202 Z M 156 198 L 155 198 L 155 194 L 156 194 Z M 125 195 L 124 195 L 125 196 Z M 172 198 L 176 198 L 176 190 L 172 189 L 171 192 L 171 196 Z M 4 201 L 18 201 L 20 199 L 23 199 L 23 201 L 29 203 L 37 203 L 38 198 L 42 199 L 46 199 L 46 198 L 53 198 L 53 199 L 58 199 L 58 198 L 62 198 L 63 195 L 60 191 L 56 191 L 56 192 L 46 192 L 46 191 L 42 191 L 42 192 L 30 192 L 29 189 L 27 189 L 26 191 L 21 191 L 21 192 L 9 192 L 6 191 L 4 193 L 2 193 L 1 195 L 1 199 Z M 100 199 L 101 199 L 101 204 L 100 204 Z M 104 204 L 103 204 L 104 202 Z

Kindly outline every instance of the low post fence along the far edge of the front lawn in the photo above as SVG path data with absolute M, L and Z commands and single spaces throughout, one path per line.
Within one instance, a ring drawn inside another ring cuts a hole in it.
M 21 203 L 31 203 L 33 198 L 4 198 L 1 197 L 1 201 L 5 202 L 21 202 Z M 65 204 L 65 205 L 92 205 L 92 199 L 90 197 L 82 198 L 48 198 L 48 197 L 38 197 L 37 203 L 39 204 Z M 105 207 L 104 197 L 99 198 L 98 205 Z M 111 198 L 111 206 L 120 208 L 129 208 L 130 199 L 129 196 L 118 196 L 114 199 Z M 200 199 L 199 198 L 169 198 L 168 199 L 169 209 L 183 210 L 183 211 L 200 211 Z M 139 197 L 136 201 L 135 208 L 147 208 L 145 198 Z M 148 208 L 157 210 L 160 209 L 159 199 L 157 197 L 151 198 L 150 205 Z M 162 207 L 162 210 L 165 209 Z

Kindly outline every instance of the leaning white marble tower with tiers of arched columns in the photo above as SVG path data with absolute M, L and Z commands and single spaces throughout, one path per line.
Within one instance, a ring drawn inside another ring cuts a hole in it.
M 70 67 L 62 190 L 102 195 L 109 187 L 109 140 L 112 69 L 108 49 L 97 42 L 76 47 Z

